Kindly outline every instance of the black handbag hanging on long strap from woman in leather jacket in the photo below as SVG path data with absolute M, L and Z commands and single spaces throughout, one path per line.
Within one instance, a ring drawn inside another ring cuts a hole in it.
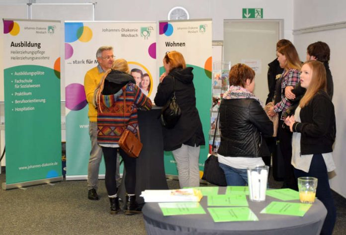
M 203 170 L 202 179 L 208 181 L 211 184 L 215 184 L 218 186 L 227 186 L 225 173 L 219 165 L 218 157 L 214 155 L 214 147 L 215 147 L 214 144 L 215 144 L 215 136 L 217 131 L 217 122 L 219 120 L 219 114 L 220 114 L 220 109 L 216 119 L 216 127 L 215 127 L 213 145 L 212 145 L 212 155 L 210 155 L 204 161 L 204 170 Z

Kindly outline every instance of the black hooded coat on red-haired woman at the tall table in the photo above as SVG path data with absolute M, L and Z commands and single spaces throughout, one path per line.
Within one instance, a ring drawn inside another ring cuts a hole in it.
M 176 150 L 182 144 L 205 145 L 202 123 L 196 108 L 192 70 L 191 67 L 173 69 L 158 86 L 154 102 L 157 106 L 164 106 L 172 97 L 174 77 L 176 102 L 181 109 L 181 117 L 173 129 L 162 127 L 165 151 Z

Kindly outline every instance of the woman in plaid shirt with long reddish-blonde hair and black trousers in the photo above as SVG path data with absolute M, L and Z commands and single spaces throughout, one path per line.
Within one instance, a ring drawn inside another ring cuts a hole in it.
M 267 111 L 269 116 L 279 116 L 279 125 L 277 130 L 277 138 L 279 140 L 280 149 L 284 161 L 284 182 L 283 188 L 298 189 L 297 182 L 294 178 L 293 167 L 291 165 L 292 147 L 291 139 L 292 133 L 285 130 L 283 127 L 285 120 L 285 112 L 291 106 L 291 102 L 285 96 L 286 89 L 292 89 L 299 82 L 299 73 L 301 69 L 301 62 L 298 53 L 293 44 L 286 44 L 276 50 L 277 61 L 280 67 L 283 68 L 282 82 L 281 82 L 281 101 L 270 107 Z

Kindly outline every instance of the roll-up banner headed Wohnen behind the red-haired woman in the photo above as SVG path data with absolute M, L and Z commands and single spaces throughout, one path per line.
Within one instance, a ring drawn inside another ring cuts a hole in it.
M 172 20 L 159 22 L 157 58 L 160 75 L 165 72 L 162 61 L 168 51 L 178 51 L 186 65 L 193 67 L 193 84 L 196 90 L 196 106 L 203 126 L 205 146 L 201 146 L 199 156 L 200 174 L 208 155 L 208 135 L 210 130 L 211 108 L 211 70 L 212 70 L 212 21 Z M 172 152 L 165 152 L 165 170 L 167 175 L 177 175 L 176 163 Z

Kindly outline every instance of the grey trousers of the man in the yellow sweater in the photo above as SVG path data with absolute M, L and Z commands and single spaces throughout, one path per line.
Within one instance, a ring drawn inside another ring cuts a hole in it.
M 87 189 L 98 187 L 98 171 L 102 160 L 102 148 L 97 144 L 97 122 L 89 122 L 89 136 L 91 141 L 91 151 L 89 163 L 87 165 Z M 119 155 L 119 153 L 118 153 Z M 116 184 L 120 185 L 119 156 L 116 161 Z

